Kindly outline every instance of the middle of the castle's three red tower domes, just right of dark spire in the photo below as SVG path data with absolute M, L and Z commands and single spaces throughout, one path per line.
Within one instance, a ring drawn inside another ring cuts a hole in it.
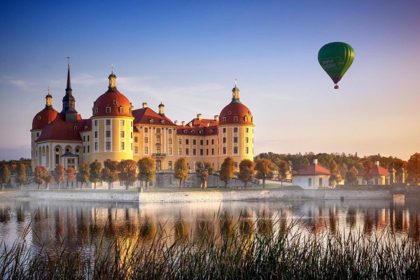
M 107 109 L 108 108 L 108 109 Z M 111 87 L 93 104 L 92 116 L 132 117 L 132 104 L 116 87 Z M 108 110 L 108 111 L 107 111 Z

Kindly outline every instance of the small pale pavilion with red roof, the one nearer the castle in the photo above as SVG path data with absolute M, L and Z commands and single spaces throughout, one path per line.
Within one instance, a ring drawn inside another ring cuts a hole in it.
M 312 165 L 292 174 L 292 184 L 300 186 L 304 190 L 332 188 L 330 186 L 330 175 L 330 170 L 319 165 L 318 160 L 314 159 Z

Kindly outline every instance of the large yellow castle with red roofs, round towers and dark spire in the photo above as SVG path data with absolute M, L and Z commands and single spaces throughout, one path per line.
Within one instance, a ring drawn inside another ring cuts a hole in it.
M 118 91 L 117 77 L 111 72 L 108 90 L 92 106 L 92 116 L 83 119 L 76 111 L 71 89 L 70 66 L 62 111 L 52 107 L 52 96 L 45 97 L 45 108 L 34 116 L 31 129 L 31 166 L 54 170 L 76 168 L 81 162 L 105 160 L 155 159 L 156 169 L 174 169 L 174 162 L 185 157 L 190 169 L 196 162 L 211 162 L 218 170 L 227 157 L 235 165 L 253 160 L 253 116 L 239 100 L 239 88 L 232 89 L 232 101 L 213 119 L 201 114 L 189 123 L 173 122 L 165 116 L 161 103 L 158 112 L 143 103 L 134 110 Z

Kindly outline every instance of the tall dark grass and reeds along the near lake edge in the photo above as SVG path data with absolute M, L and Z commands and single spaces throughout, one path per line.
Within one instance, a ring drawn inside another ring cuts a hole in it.
M 218 225 L 219 230 L 215 230 Z M 392 232 L 315 235 L 296 221 L 257 221 L 218 214 L 125 232 L 105 241 L 92 234 L 80 249 L 0 242 L 1 279 L 420 279 L 420 244 Z M 148 238 L 144 238 L 148 237 Z

